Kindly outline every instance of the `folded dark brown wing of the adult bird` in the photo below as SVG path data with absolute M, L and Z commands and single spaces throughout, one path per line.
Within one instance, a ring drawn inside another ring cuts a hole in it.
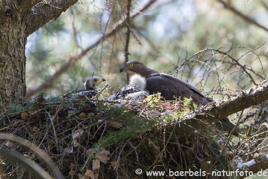
M 174 76 L 162 73 L 152 74 L 150 78 L 146 79 L 146 89 L 152 93 L 162 93 L 161 95 L 166 100 L 174 100 L 181 97 L 191 97 L 194 103 L 197 104 L 207 104 L 210 98 L 204 96 L 198 89 L 194 86 L 178 79 Z

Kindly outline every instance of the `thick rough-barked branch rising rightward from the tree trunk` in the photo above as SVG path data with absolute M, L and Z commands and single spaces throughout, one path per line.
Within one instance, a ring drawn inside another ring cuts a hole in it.
M 28 15 L 26 36 L 29 36 L 48 21 L 56 20 L 62 12 L 65 12 L 70 6 L 78 0 L 51 0 L 49 4 L 38 3 L 31 9 Z

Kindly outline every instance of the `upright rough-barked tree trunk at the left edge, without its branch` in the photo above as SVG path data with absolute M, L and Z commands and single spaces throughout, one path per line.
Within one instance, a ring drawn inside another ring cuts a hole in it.
M 0 12 L 0 108 L 26 94 L 25 19 L 12 8 Z

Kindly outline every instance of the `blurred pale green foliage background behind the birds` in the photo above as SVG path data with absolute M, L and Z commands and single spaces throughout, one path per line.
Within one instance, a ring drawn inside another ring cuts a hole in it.
M 126 13 L 125 0 L 82 2 L 83 4 L 78 1 L 56 21 L 50 21 L 28 37 L 28 88 L 44 82 L 61 68 L 69 56 L 93 44 Z M 106 2 L 111 9 L 108 9 Z M 143 3 L 146 1 L 132 2 L 131 10 Z M 232 0 L 231 3 L 240 12 L 268 27 L 268 11 L 260 1 Z M 196 61 L 196 57 L 186 63 L 183 61 L 206 47 L 221 48 L 224 52 L 234 46 L 256 49 L 266 42 L 266 38 L 267 31 L 224 9 L 218 1 L 158 0 L 144 13 L 132 19 L 129 59 L 141 61 L 154 70 L 175 74 L 202 92 L 210 91 L 217 86 L 219 87 L 216 90 L 243 89 L 252 86 L 252 82 L 247 75 L 240 73 L 239 66 L 233 65 L 233 61 L 224 55 L 214 57 L 206 54 L 198 59 L 206 65 Z M 111 85 L 112 93 L 117 92 L 126 85 L 125 73 L 119 73 L 125 61 L 125 41 L 126 27 L 91 49 L 75 66 L 62 74 L 54 86 L 47 89 L 48 95 L 60 94 L 65 90 L 84 89 L 84 81 L 92 76 L 93 72 L 94 75 L 106 79 Z M 247 53 L 248 50 L 245 48 L 233 48 L 229 54 L 235 59 L 241 57 L 239 62 L 242 65 L 248 65 L 266 78 L 266 44 L 255 50 L 255 54 Z M 221 63 L 221 60 L 226 63 Z M 180 64 L 181 67 L 177 69 L 177 73 L 173 68 L 176 64 Z M 215 72 L 210 67 L 208 70 L 207 64 L 212 68 L 217 67 L 217 73 L 207 73 L 209 70 Z M 250 73 L 257 83 L 263 80 L 256 77 L 253 72 Z M 210 94 L 212 95 L 216 99 L 219 98 L 216 92 Z

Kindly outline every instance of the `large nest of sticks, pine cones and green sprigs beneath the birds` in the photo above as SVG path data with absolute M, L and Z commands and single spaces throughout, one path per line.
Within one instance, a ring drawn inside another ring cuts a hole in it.
M 2 114 L 1 132 L 42 149 L 64 178 L 159 178 L 147 174 L 234 170 L 236 146 L 228 149 L 218 131 L 217 135 L 213 131 L 177 132 L 191 109 L 184 101 L 161 101 L 158 95 L 141 101 L 37 99 L 21 101 L 24 110 Z M 9 140 L 0 147 L 28 156 L 55 178 L 31 149 Z M 3 178 L 33 178 L 27 169 L 8 160 L 1 162 L 0 173 Z

